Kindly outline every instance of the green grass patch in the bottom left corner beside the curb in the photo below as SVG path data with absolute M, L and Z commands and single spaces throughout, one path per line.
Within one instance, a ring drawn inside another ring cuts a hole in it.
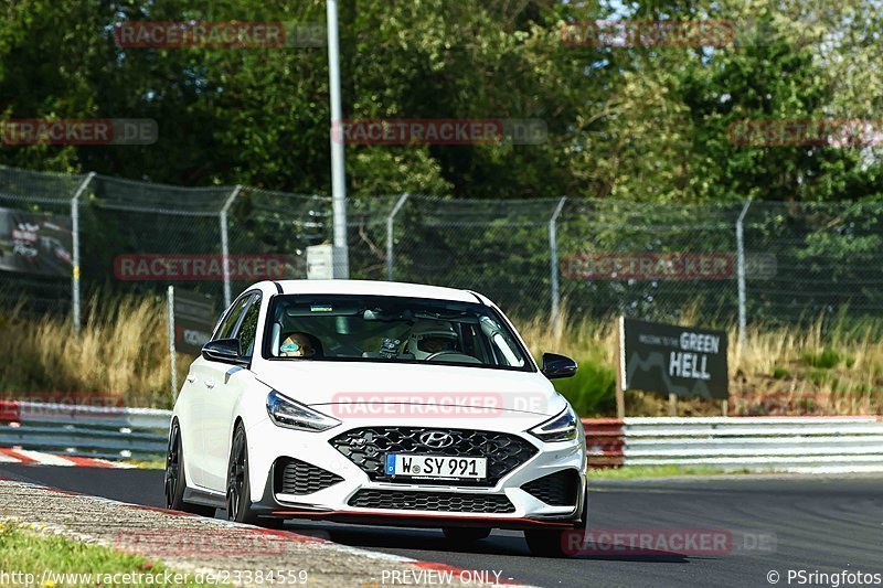
M 100 545 L 87 545 L 57 535 L 44 535 L 11 522 L 0 522 L 0 570 L 7 574 L 21 574 L 19 578 L 22 581 L 17 581 L 14 577 L 4 580 L 0 578 L 4 585 L 24 584 L 25 575 L 32 574 L 34 578 L 32 586 L 108 584 L 103 579 L 111 579 L 113 584 L 118 585 L 134 585 L 137 582 L 131 577 L 126 581 L 123 575 L 149 574 L 157 577 L 169 573 L 174 577 L 175 574 L 162 564 L 148 562 L 140 556 Z M 82 576 L 88 574 L 92 575 L 91 578 Z M 184 579 L 183 574 L 179 578 Z M 193 578 L 188 578 L 181 586 L 202 585 L 196 584 Z

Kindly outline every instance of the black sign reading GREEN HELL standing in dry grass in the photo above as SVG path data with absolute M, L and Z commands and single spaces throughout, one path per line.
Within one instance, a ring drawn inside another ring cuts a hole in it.
M 726 332 L 619 319 L 623 389 L 727 398 Z

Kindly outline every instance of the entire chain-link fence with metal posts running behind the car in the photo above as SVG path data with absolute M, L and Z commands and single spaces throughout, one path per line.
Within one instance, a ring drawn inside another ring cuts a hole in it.
M 66 312 L 81 290 L 158 295 L 179 281 L 223 302 L 264 277 L 307 278 L 307 248 L 332 237 L 331 199 L 248 186 L 0 168 L 3 211 L 0 306 L 34 313 Z M 21 264 L 21 214 L 70 226 L 61 267 Z M 883 311 L 877 202 L 355 195 L 348 238 L 352 278 L 474 289 L 553 322 L 561 309 L 720 325 Z

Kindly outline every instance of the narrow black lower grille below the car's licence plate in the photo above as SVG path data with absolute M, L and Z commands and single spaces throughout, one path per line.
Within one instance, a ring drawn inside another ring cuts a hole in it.
M 350 506 L 396 511 L 438 511 L 448 513 L 502 514 L 515 512 L 509 499 L 498 494 L 455 492 L 411 492 L 406 490 L 360 490 Z

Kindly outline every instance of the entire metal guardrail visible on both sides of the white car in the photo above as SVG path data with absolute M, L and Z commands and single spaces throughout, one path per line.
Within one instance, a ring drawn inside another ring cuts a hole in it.
M 0 400 L 0 447 L 76 457 L 166 455 L 170 410 Z M 583 419 L 589 464 L 883 471 L 883 417 Z

